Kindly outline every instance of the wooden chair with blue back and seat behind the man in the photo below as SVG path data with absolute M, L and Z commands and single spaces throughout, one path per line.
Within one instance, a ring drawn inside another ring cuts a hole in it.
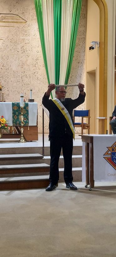
M 81 122 L 75 122 L 75 117 L 82 117 Z M 84 123 L 83 119 L 88 118 L 88 123 Z M 73 111 L 73 121 L 74 127 L 82 128 L 81 134 L 83 135 L 83 129 L 88 130 L 88 134 L 90 134 L 90 110 L 74 110 Z

